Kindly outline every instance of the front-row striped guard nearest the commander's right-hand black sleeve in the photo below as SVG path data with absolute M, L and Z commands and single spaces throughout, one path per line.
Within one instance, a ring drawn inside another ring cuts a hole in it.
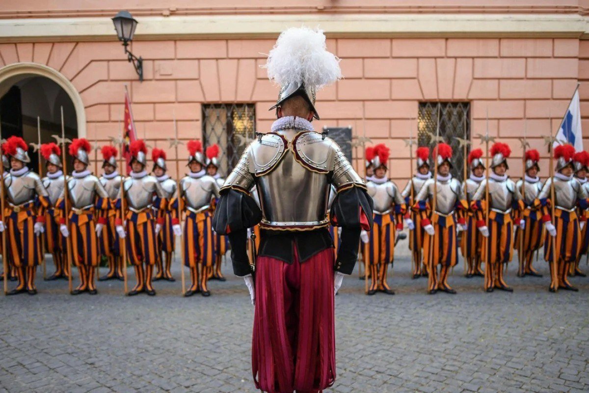
M 366 230 L 360 233 L 364 243 L 363 255 L 367 258 L 370 268 L 371 285 L 368 295 L 377 290 L 395 295 L 386 282 L 389 263 L 395 259 L 395 229 L 403 229 L 403 215 L 406 206 L 396 184 L 386 177 L 386 162 L 389 159 L 389 148 L 384 144 L 374 147 L 374 176 L 368 177 L 366 189 L 374 204 L 373 224 L 370 234 Z M 411 219 L 405 219 L 409 229 L 413 227 Z

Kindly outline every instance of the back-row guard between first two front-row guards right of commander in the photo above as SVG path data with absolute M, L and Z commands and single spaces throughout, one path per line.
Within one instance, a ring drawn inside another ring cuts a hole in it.
M 432 173 L 429 171 L 429 148 L 418 147 L 416 150 L 417 156 L 417 172 L 405 186 L 405 189 L 401 192 L 407 206 L 413 206 L 415 204 L 415 196 L 421 190 L 423 183 L 428 179 L 431 179 Z M 423 227 L 421 225 L 421 214 L 408 209 L 406 219 L 413 221 L 413 229 L 409 229 L 409 249 L 413 253 L 413 279 L 419 277 L 427 277 L 428 269 L 425 266 L 425 260 L 423 260 Z

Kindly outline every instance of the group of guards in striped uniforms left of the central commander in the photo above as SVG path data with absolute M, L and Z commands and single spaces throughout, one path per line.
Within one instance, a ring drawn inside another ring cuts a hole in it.
M 166 174 L 163 150 L 153 149 L 154 176 L 148 173 L 143 140 L 129 146 L 132 171 L 128 177 L 118 174 L 117 148 L 102 147 L 104 161 L 99 178 L 88 169 L 90 143 L 84 138 L 74 139 L 68 148 L 73 171 L 66 180 L 61 148 L 55 143 L 41 146 L 47 168 L 47 176 L 41 179 L 28 168 L 27 143 L 19 137 L 8 138 L 2 144 L 6 204 L 5 221 L 0 221 L 0 231 L 6 232 L 8 270 L 2 275 L 18 284 L 7 294 L 37 293 L 35 273 L 45 251 L 51 253 L 55 264 L 55 272 L 46 279 L 68 279 L 69 246 L 71 265 L 77 267 L 80 278 L 71 294 L 94 295 L 98 292 L 97 280 L 124 279 L 124 243 L 137 282 L 128 295 L 155 295 L 154 281 L 175 280 L 170 266 L 177 252 L 175 237 L 181 236 L 183 262 L 191 278 L 184 296 L 209 296 L 208 280 L 225 280 L 221 262 L 229 244 L 226 236 L 217 235 L 211 227 L 215 201 L 224 183 L 218 173 L 220 150 L 213 145 L 205 155 L 196 140 L 188 142 L 187 147 L 188 173 L 179 182 L 178 197 L 176 181 Z M 101 256 L 107 258 L 109 270 L 96 277 Z

